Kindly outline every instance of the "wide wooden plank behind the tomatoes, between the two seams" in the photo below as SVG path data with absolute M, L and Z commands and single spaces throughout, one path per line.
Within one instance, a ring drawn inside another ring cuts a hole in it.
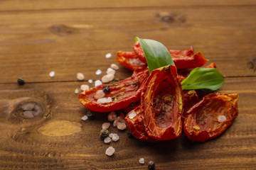
M 174 13 L 167 15 L 174 21 L 157 16 L 166 16 L 166 11 Z M 0 13 L 0 82 L 14 83 L 18 77 L 28 82 L 75 81 L 78 72 L 86 80 L 99 79 L 96 69 L 105 72 L 117 63 L 114 57 L 105 60 L 105 54 L 132 50 L 136 35 L 177 50 L 193 45 L 225 76 L 255 76 L 247 64 L 256 54 L 255 18 L 254 6 Z M 52 70 L 54 79 L 48 77 Z

